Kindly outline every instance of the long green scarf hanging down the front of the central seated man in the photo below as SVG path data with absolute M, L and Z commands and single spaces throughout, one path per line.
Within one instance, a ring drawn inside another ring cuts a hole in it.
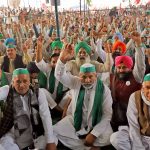
M 92 126 L 100 122 L 102 117 L 104 85 L 100 79 L 97 80 L 94 104 L 92 108 Z M 74 127 L 76 131 L 81 129 L 82 124 L 82 106 L 84 101 L 85 89 L 81 86 L 77 99 L 76 110 L 74 113 Z

